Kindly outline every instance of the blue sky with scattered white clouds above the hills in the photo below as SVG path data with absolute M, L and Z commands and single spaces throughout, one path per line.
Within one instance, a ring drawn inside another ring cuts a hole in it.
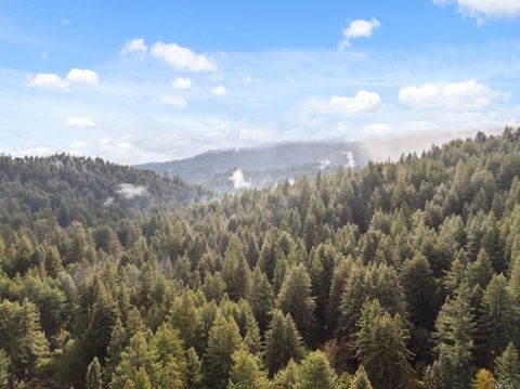
M 520 122 L 520 0 L 0 0 L 0 153 L 121 164 Z

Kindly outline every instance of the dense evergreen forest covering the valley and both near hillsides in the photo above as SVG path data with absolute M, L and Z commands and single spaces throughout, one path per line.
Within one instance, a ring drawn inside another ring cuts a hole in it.
M 218 200 L 65 155 L 0 192 L 0 388 L 520 388 L 520 129 Z

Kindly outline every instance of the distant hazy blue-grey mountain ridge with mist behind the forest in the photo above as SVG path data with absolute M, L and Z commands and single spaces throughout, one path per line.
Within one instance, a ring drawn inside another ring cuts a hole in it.
M 265 187 L 285 179 L 342 167 L 363 167 L 369 160 L 398 159 L 401 154 L 421 152 L 455 137 L 476 131 L 412 132 L 394 138 L 341 141 L 300 141 L 248 148 L 209 151 L 190 158 L 136 165 L 200 184 L 217 192 Z

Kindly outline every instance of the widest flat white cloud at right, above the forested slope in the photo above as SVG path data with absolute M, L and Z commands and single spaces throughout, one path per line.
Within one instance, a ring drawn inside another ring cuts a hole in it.
M 494 91 L 474 79 L 461 82 L 427 82 L 419 86 L 403 87 L 399 91 L 399 101 L 414 109 L 453 108 L 477 109 L 490 104 L 492 100 L 508 93 Z

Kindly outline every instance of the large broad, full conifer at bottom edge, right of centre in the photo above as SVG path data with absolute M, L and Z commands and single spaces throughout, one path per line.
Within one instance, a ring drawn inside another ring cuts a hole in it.
M 376 388 L 399 388 L 410 379 L 412 367 L 407 359 L 407 330 L 399 314 L 393 317 L 379 301 L 363 304 L 354 340 L 356 356 L 366 368 Z

